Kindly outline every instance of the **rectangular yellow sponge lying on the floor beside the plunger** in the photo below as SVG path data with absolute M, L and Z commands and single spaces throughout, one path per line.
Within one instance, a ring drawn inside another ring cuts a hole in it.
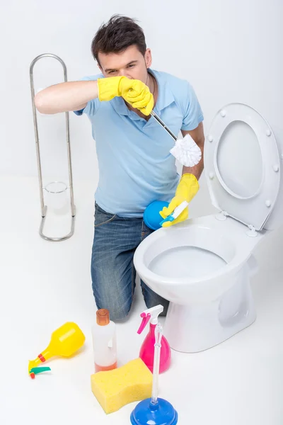
M 141 358 L 114 370 L 91 375 L 91 390 L 105 413 L 151 397 L 152 373 Z

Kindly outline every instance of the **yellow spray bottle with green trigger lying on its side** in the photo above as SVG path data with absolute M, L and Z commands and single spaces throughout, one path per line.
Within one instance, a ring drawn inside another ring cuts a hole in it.
M 38 368 L 37 366 L 49 360 L 53 356 L 70 357 L 83 346 L 86 337 L 74 322 L 67 322 L 56 329 L 51 335 L 50 343 L 35 360 L 28 363 L 28 373 L 31 378 L 50 368 Z

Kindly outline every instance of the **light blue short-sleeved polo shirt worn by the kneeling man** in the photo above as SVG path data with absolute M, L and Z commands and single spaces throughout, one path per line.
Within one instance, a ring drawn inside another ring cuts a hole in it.
M 158 83 L 154 112 L 175 135 L 194 130 L 203 120 L 192 86 L 166 72 L 149 69 Z M 83 80 L 103 78 L 103 74 Z M 170 201 L 180 176 L 170 154 L 174 140 L 156 123 L 129 111 L 122 97 L 89 101 L 76 115 L 91 120 L 96 141 L 99 181 L 96 202 L 103 210 L 121 217 L 142 217 L 154 200 Z

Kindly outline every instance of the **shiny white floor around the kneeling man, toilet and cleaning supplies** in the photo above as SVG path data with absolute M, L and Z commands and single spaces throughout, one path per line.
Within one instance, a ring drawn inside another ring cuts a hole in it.
M 75 234 L 52 243 L 38 235 L 37 186 L 37 179 L 0 178 L 0 424 L 129 424 L 135 404 L 106 416 L 90 386 L 96 312 L 89 273 L 93 188 L 90 183 L 75 185 Z M 68 217 L 58 217 L 58 222 L 57 232 L 52 222 L 55 236 L 69 232 Z M 283 424 L 282 251 L 283 229 L 255 252 L 260 263 L 253 279 L 255 324 L 202 353 L 173 351 L 171 369 L 159 380 L 159 396 L 178 410 L 178 424 Z M 137 335 L 144 308 L 137 291 L 129 319 L 117 325 L 120 365 L 139 355 L 146 336 Z M 52 372 L 31 380 L 28 360 L 67 321 L 79 324 L 85 348 L 69 360 L 48 362 Z

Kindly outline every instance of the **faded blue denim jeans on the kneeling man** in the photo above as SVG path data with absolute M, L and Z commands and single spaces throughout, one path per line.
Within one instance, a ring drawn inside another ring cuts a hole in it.
M 96 203 L 91 278 L 98 309 L 106 308 L 114 322 L 124 319 L 132 306 L 136 271 L 134 251 L 152 230 L 142 218 L 125 218 L 104 211 Z M 163 315 L 169 302 L 141 280 L 146 307 L 161 304 Z

